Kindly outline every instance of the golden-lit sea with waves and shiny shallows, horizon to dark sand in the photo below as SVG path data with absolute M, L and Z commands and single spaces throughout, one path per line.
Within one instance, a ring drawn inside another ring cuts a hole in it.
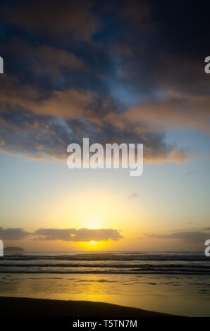
M 210 316 L 204 252 L 23 252 L 0 258 L 0 295 L 104 301 Z

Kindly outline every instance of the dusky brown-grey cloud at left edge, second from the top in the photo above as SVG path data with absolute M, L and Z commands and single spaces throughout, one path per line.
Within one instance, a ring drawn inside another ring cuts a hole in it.
M 5 58 L 13 57 L 19 66 L 23 68 L 23 73 L 27 75 L 29 81 L 37 80 L 46 77 L 51 80 L 63 80 L 63 75 L 88 73 L 85 63 L 82 58 L 74 54 L 73 51 L 58 46 L 31 46 L 26 42 L 20 44 L 9 44 L 4 46 Z M 15 69 L 15 68 L 14 68 Z M 13 75 L 16 74 L 16 69 L 13 70 Z M 21 78 L 21 77 L 19 77 Z M 4 77 L 3 77 L 4 79 Z M 22 77 L 23 79 L 23 77 Z M 30 81 L 32 83 L 33 81 Z M 33 82 L 34 83 L 34 82 Z M 20 82 L 18 82 L 20 84 Z

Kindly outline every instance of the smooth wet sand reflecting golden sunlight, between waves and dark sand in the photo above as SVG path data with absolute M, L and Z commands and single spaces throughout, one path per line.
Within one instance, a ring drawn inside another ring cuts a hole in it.
M 202 275 L 1 274 L 0 282 L 4 284 L 1 296 L 103 301 L 163 313 L 210 316 L 209 283 Z

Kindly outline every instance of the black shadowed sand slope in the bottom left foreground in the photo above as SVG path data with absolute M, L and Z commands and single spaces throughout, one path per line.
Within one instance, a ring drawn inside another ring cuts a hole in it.
M 0 297 L 0 316 L 9 317 L 170 317 L 139 308 L 92 301 Z

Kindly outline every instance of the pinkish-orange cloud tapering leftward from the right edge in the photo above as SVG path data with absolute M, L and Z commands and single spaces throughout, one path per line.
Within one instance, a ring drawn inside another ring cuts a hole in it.
M 210 134 L 210 96 L 176 96 L 140 104 L 121 115 L 131 123 L 145 123 L 159 131 L 186 128 Z

